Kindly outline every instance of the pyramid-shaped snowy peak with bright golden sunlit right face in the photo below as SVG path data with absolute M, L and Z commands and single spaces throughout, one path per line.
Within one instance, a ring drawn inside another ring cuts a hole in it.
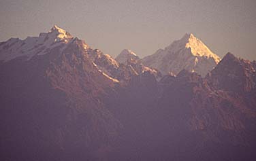
M 158 69 L 166 75 L 177 75 L 182 69 L 197 72 L 203 77 L 220 61 L 219 56 L 212 53 L 202 41 L 193 34 L 185 34 L 182 39 L 174 41 L 164 50 L 142 59 L 144 65 Z

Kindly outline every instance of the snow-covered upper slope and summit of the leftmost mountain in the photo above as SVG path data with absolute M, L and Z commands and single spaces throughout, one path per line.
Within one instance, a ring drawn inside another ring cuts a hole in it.
M 59 47 L 65 48 L 65 44 L 75 39 L 67 31 L 54 25 L 48 33 L 40 33 L 38 37 L 26 39 L 8 39 L 0 43 L 0 60 L 8 61 L 19 56 L 31 58 L 35 55 L 43 55 L 50 50 Z M 87 45 L 84 43 L 84 48 Z

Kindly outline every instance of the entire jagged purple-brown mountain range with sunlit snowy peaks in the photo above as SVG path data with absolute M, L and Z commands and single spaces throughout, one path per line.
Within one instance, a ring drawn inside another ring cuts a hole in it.
M 0 43 L 1 160 L 255 160 L 256 62 L 192 34 L 139 58 L 59 26 Z

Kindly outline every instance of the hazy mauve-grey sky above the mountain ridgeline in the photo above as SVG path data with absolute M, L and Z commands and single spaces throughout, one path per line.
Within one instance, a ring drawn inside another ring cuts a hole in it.
M 112 56 L 143 57 L 193 33 L 221 57 L 256 60 L 256 0 L 0 0 L 0 41 L 54 24 Z

